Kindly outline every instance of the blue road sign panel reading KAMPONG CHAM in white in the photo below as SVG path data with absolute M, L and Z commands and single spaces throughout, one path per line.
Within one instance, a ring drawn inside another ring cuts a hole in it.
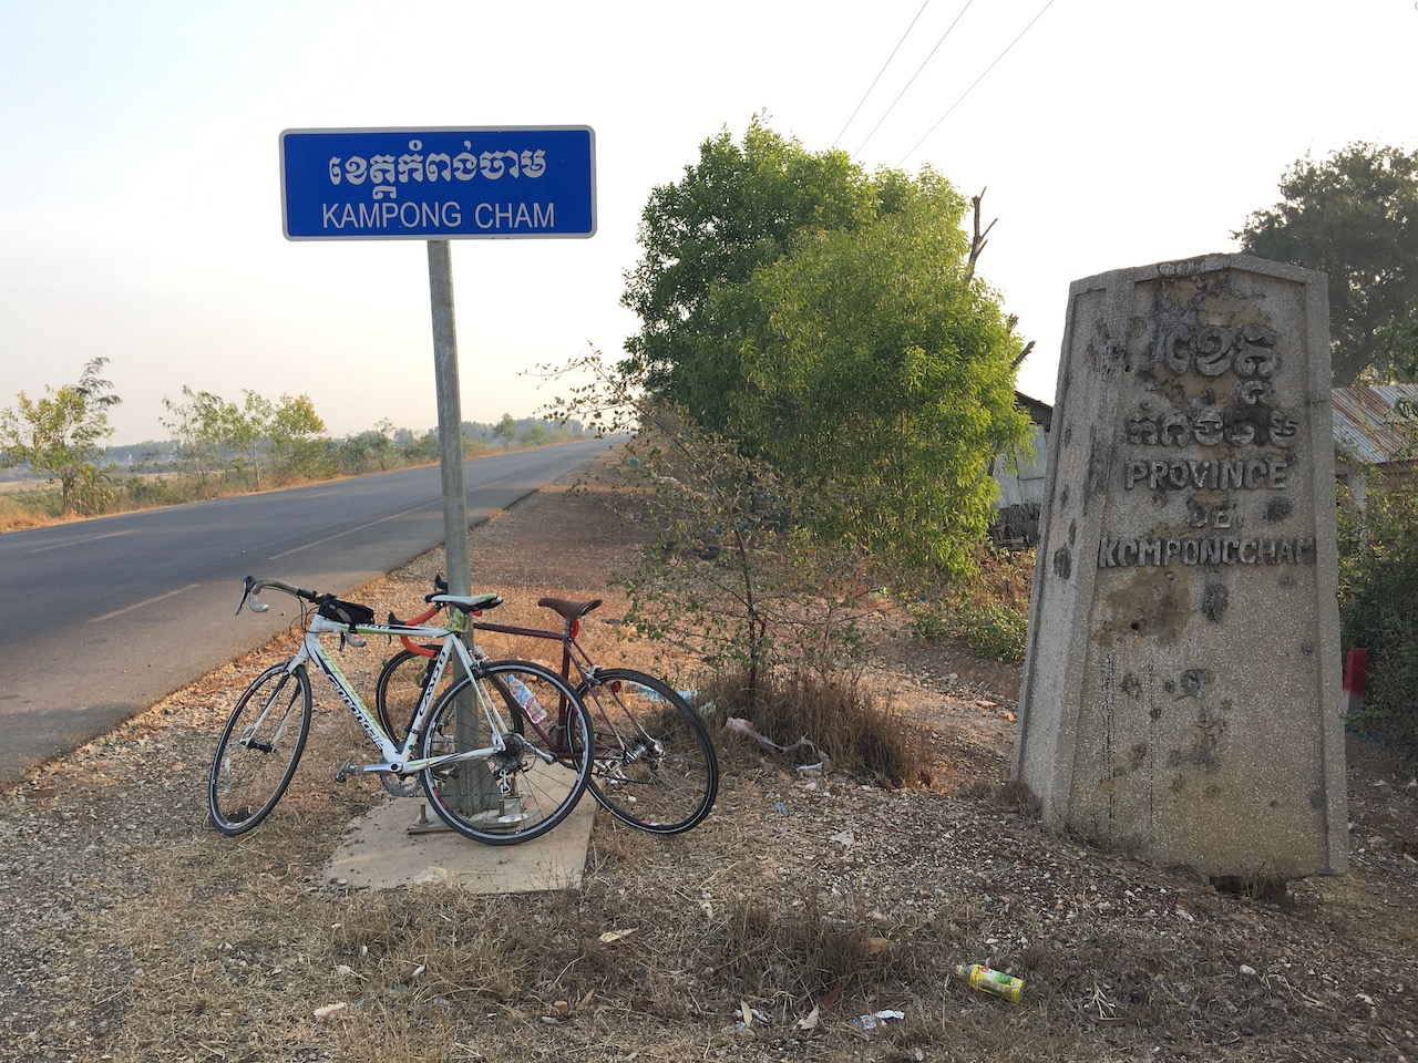
M 596 232 L 588 126 L 286 129 L 286 240 L 508 240 Z

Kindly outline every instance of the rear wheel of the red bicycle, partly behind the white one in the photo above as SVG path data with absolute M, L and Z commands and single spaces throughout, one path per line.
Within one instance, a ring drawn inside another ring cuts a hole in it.
M 672 687 L 630 668 L 597 669 L 577 687 L 591 716 L 591 797 L 637 831 L 678 835 L 719 795 L 719 758 L 703 720 Z

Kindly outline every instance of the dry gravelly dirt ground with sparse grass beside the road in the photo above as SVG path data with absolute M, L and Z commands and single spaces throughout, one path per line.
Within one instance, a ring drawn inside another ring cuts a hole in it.
M 608 574 L 634 546 L 560 485 L 474 532 L 474 585 L 509 622 L 545 594 L 601 597 L 593 651 L 691 683 L 620 622 Z M 352 597 L 410 615 L 441 568 L 428 554 Z M 332 781 L 357 736 L 319 687 L 271 819 L 206 825 L 220 726 L 289 649 L 0 794 L 0 1059 L 1418 1060 L 1418 781 L 1373 741 L 1349 747 L 1347 874 L 1218 893 L 1041 829 L 1003 787 L 1018 669 L 883 628 L 872 676 L 930 736 L 929 788 L 723 746 L 695 831 L 597 812 L 574 896 L 370 896 L 320 876 L 380 791 Z M 340 660 L 372 683 L 381 653 Z M 959 962 L 1021 977 L 1022 1001 L 971 992 Z

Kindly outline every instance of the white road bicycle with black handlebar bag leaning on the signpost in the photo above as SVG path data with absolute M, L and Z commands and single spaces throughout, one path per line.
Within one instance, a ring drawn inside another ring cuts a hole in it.
M 265 819 L 291 784 L 311 730 L 312 660 L 380 757 L 370 764 L 345 761 L 337 781 L 374 774 L 397 797 L 423 792 L 450 828 L 488 845 L 539 838 L 576 808 L 591 771 L 586 755 L 591 724 L 580 699 L 550 669 L 479 659 L 476 646 L 468 648 L 469 617 L 501 605 L 496 594 L 427 595 L 447 607 L 448 626 L 374 624 L 366 605 L 248 575 L 237 614 L 248 601 L 252 612 L 269 608 L 257 601 L 268 587 L 303 602 L 305 635 L 289 660 L 247 687 L 217 741 L 207 797 L 211 822 L 224 835 L 244 833 Z M 326 635 L 352 645 L 363 645 L 366 635 L 440 643 L 430 668 L 441 676 L 457 660 L 459 672 L 445 690 L 437 682 L 427 685 L 400 743 L 340 672 L 320 641 Z

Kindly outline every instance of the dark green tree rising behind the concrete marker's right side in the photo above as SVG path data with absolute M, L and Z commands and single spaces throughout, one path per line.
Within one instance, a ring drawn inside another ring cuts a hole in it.
M 1305 157 L 1280 196 L 1232 235 L 1249 254 L 1329 274 L 1334 383 L 1412 374 L 1395 342 L 1418 322 L 1418 152 L 1353 143 Z

